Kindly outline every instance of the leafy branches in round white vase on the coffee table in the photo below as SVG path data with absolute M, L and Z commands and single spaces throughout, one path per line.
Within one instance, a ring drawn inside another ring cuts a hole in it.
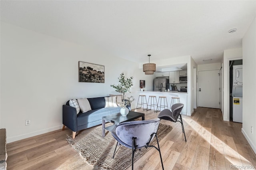
M 133 96 L 130 96 L 127 99 L 125 99 L 125 93 L 127 93 L 127 92 L 131 93 L 130 89 L 133 86 L 132 79 L 133 79 L 133 77 L 125 78 L 124 73 L 122 72 L 120 74 L 120 77 L 118 77 L 118 81 L 119 81 L 120 84 L 110 85 L 111 87 L 116 89 L 117 92 L 122 93 L 122 96 L 123 96 L 122 97 L 122 102 L 118 102 L 117 104 L 121 107 L 120 113 L 125 111 L 124 115 L 125 114 L 127 115 L 128 112 L 129 112 L 129 110 L 128 110 L 128 108 L 126 108 L 126 106 L 129 105 L 130 103 L 132 103 L 132 101 L 134 101 Z

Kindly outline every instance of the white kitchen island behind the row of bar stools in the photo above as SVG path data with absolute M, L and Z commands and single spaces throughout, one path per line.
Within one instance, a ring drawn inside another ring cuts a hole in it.
M 188 96 L 187 92 L 181 92 L 181 91 L 138 91 L 138 93 L 140 95 L 146 95 L 147 102 L 148 102 L 149 96 L 156 96 L 156 101 L 158 101 L 159 96 L 166 96 L 168 109 L 170 109 L 172 97 L 180 97 L 180 103 L 184 104 L 184 107 L 182 109 L 182 115 L 187 114 L 187 96 Z M 175 103 L 177 103 L 177 99 L 174 99 L 174 104 Z M 159 105 L 160 105 L 160 103 L 159 103 Z M 163 110 L 163 108 L 161 108 L 161 110 Z

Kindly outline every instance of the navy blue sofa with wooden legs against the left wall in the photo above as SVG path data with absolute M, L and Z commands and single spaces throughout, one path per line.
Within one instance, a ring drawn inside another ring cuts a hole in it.
M 66 105 L 62 106 L 62 130 L 64 130 L 65 126 L 70 128 L 73 131 L 72 138 L 75 138 L 76 132 L 78 130 L 101 125 L 102 117 L 120 113 L 120 107 L 105 108 L 104 97 L 94 97 L 87 99 L 92 110 L 86 113 L 82 113 L 80 111 L 78 114 L 76 114 L 76 108 L 71 107 L 69 105 L 69 101 L 66 102 Z M 128 105 L 127 108 L 130 110 L 130 105 Z

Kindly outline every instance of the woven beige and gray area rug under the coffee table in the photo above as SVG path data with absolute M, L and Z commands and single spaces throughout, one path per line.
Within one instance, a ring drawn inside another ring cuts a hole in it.
M 158 140 L 161 140 L 171 129 L 171 126 L 160 123 L 157 132 Z M 106 130 L 106 132 L 108 131 Z M 112 158 L 116 147 L 116 140 L 110 132 L 103 138 L 101 126 L 96 127 L 92 131 L 82 132 L 75 139 L 67 135 L 66 140 L 95 169 L 125 170 L 132 165 L 132 150 L 130 148 L 121 145 L 118 146 L 115 157 L 114 159 Z M 154 138 L 151 145 L 155 145 L 156 143 L 156 138 Z M 135 152 L 134 162 L 150 149 L 142 148 Z

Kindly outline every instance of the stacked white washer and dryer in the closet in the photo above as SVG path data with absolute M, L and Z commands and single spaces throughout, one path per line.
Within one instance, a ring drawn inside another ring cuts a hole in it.
M 232 87 L 233 122 L 243 121 L 243 66 L 233 65 Z

